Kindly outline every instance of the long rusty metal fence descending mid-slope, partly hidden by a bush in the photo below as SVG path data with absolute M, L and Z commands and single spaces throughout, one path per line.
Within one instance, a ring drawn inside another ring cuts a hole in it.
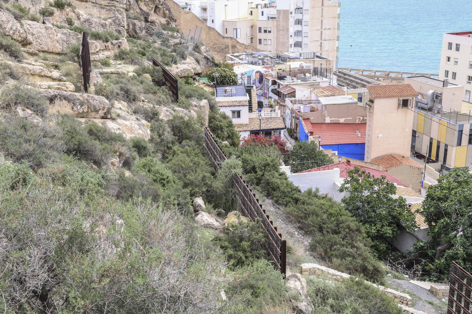
M 226 155 L 219 148 L 218 144 L 213 139 L 213 135 L 206 127 L 204 137 L 208 157 L 210 157 L 215 168 L 220 169 L 221 163 L 227 159 Z M 267 243 L 265 243 L 267 253 L 274 260 L 277 269 L 285 276 L 287 272 L 287 241 L 282 240 L 282 234 L 278 233 L 277 227 L 274 227 L 269 215 L 266 215 L 265 210 L 262 209 L 261 204 L 259 204 L 259 199 L 256 198 L 243 178 L 236 174 L 233 181 L 241 214 L 250 218 L 253 222 L 255 222 L 257 218 L 261 219 L 262 229 L 266 232 L 268 238 Z

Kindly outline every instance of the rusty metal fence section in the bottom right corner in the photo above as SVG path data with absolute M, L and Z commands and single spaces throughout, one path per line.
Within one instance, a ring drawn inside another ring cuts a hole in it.
M 453 262 L 449 281 L 447 314 L 472 314 L 472 275 Z

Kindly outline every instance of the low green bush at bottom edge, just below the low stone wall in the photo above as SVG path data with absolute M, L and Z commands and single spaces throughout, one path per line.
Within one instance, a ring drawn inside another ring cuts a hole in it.
M 379 289 L 362 280 L 350 280 L 336 285 L 307 278 L 308 296 L 316 314 L 377 313 L 401 314 L 402 310 Z

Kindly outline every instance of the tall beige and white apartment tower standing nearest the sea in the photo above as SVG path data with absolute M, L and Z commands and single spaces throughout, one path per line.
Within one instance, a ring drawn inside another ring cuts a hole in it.
M 337 0 L 278 1 L 276 52 L 312 50 L 337 66 L 340 8 Z

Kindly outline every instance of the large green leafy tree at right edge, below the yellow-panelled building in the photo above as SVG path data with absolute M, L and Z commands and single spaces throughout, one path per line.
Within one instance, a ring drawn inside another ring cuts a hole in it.
M 427 249 L 426 271 L 447 274 L 452 261 L 472 270 L 472 174 L 455 168 L 431 185 L 418 212 L 430 226 L 431 240 L 419 243 Z

